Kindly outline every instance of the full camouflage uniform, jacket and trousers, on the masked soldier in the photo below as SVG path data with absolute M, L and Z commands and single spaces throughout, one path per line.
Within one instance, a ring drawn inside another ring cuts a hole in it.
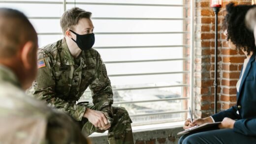
M 112 107 L 113 92 L 105 64 L 95 49 L 82 51 L 73 58 L 65 38 L 49 44 L 38 52 L 38 61 L 45 66 L 28 93 L 80 121 L 83 132 L 103 132 L 83 117 L 86 108 L 104 112 L 111 127 L 110 144 L 133 144 L 131 120 L 125 108 Z M 92 91 L 93 104 L 78 103 L 86 88 Z

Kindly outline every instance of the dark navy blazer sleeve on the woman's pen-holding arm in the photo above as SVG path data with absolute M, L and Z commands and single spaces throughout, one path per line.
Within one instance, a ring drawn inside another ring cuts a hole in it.
M 225 117 L 231 119 L 240 119 L 241 117 L 236 113 L 237 106 L 233 106 L 225 111 L 219 112 L 218 114 L 212 115 L 215 122 L 222 121 Z

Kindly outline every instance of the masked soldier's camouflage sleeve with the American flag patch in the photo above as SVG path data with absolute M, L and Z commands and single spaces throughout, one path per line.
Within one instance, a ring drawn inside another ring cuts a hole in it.
M 39 65 L 40 64 L 40 65 Z M 58 97 L 55 92 L 55 72 L 51 58 L 45 54 L 38 56 L 38 71 L 32 87 L 27 91 L 35 98 L 44 100 L 49 106 L 71 115 L 75 120 L 80 121 L 85 113 L 86 107 L 70 104 Z

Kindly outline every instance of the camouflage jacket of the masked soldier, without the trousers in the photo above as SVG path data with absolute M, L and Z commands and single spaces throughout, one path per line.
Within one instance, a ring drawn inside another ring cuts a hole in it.
M 96 110 L 110 116 L 113 92 L 105 64 L 95 49 L 82 51 L 79 57 L 77 64 L 65 38 L 40 49 L 38 63 L 41 65 L 28 93 L 81 120 L 86 107 L 77 105 L 77 101 L 89 86 Z

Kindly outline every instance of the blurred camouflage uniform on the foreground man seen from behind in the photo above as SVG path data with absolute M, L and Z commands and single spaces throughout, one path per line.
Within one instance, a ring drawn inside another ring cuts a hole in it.
M 87 144 L 87 141 L 70 116 L 28 96 L 14 73 L 0 65 L 0 144 Z

